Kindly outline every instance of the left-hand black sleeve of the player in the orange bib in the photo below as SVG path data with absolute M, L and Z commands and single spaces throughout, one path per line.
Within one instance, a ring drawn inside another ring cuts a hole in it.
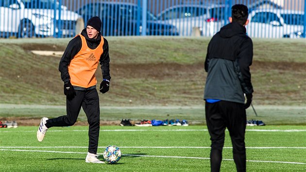
M 73 57 L 81 50 L 82 40 L 80 36 L 76 36 L 71 39 L 66 47 L 66 50 L 60 60 L 58 70 L 61 72 L 61 78 L 64 83 L 70 81 L 70 75 L 68 73 L 68 66 Z

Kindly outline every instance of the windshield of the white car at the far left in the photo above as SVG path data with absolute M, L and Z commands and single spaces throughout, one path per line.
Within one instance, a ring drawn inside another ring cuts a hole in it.
M 25 8 L 34 8 L 34 9 L 54 9 L 54 4 L 56 5 L 55 8 L 59 8 L 59 3 L 55 0 L 21 0 L 24 4 Z

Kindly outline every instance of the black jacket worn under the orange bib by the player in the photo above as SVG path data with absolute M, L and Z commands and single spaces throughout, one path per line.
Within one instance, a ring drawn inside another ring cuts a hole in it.
M 81 33 L 85 39 L 86 39 L 86 43 L 88 48 L 90 49 L 95 49 L 97 48 L 97 46 L 100 44 L 101 42 L 101 34 L 99 33 L 97 39 L 90 39 L 87 36 L 86 33 L 86 29 L 83 29 L 82 33 Z M 110 80 L 111 76 L 109 73 L 109 54 L 108 54 L 108 42 L 107 40 L 103 37 L 104 39 L 104 44 L 103 44 L 103 53 L 100 57 L 100 65 L 101 65 L 101 69 L 102 69 L 102 76 L 103 79 L 107 79 Z M 70 64 L 70 61 L 73 59 L 73 57 L 80 52 L 82 48 L 82 39 L 81 37 L 78 35 L 76 37 L 74 37 L 73 39 L 71 39 L 68 43 L 68 46 L 61 58 L 61 61 L 59 63 L 59 71 L 61 72 L 61 78 L 64 81 L 64 83 L 67 83 L 70 81 L 70 76 L 68 73 L 68 66 Z

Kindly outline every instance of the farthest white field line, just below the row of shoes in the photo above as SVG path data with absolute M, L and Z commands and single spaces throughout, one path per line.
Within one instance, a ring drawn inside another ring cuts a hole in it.
M 208 131 L 207 129 L 175 129 L 175 130 L 145 130 L 145 129 L 134 129 L 134 130 L 100 130 L 101 132 L 130 132 L 130 131 Z M 226 130 L 227 131 L 227 130 Z M 255 131 L 255 132 L 306 132 L 306 130 L 264 130 L 264 129 L 247 129 L 246 131 Z M 13 133 L 16 132 L 14 130 L 11 131 L 0 131 L 0 133 Z M 32 133 L 36 131 L 18 131 L 19 133 Z M 48 132 L 88 132 L 88 130 L 49 130 Z

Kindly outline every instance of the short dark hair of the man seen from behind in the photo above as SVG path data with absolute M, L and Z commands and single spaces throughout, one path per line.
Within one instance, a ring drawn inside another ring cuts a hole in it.
M 243 4 L 236 4 L 232 6 L 232 21 L 244 25 L 249 16 L 249 9 Z

